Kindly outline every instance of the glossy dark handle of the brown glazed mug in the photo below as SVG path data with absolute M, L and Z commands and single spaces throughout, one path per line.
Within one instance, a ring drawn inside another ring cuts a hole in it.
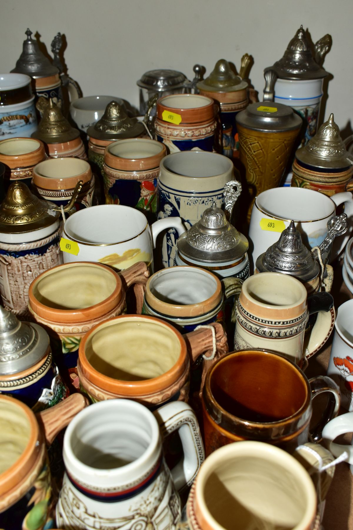
M 322 394 L 323 392 L 330 392 L 334 398 L 334 401 L 331 401 L 327 407 L 323 418 L 310 430 L 310 435 L 313 441 L 318 442 L 322 439 L 323 427 L 330 420 L 336 418 L 338 414 L 341 404 L 341 393 L 337 384 L 331 379 L 331 377 L 328 377 L 327 375 L 312 377 L 309 379 L 309 384 L 312 398 L 315 398 L 315 396 Z

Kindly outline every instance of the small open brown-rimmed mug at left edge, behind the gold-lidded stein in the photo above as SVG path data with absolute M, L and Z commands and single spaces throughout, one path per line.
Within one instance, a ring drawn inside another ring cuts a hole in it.
M 33 167 L 46 160 L 44 144 L 34 138 L 9 138 L 0 142 L 0 162 L 5 165 L 4 183 L 20 180 L 30 186 Z

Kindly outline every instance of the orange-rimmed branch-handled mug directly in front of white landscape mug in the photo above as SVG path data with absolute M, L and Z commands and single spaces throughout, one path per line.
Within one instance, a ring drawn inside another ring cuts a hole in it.
M 141 312 L 143 288 L 149 272 L 135 263 L 118 275 L 105 265 L 66 263 L 42 273 L 29 287 L 29 311 L 51 337 L 60 373 L 71 388 L 78 387 L 77 358 L 80 341 L 95 324 L 126 311 L 125 291 L 139 284 Z

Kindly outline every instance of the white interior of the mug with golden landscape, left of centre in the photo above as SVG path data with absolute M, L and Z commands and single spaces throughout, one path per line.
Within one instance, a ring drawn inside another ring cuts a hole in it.
M 146 217 L 129 206 L 99 205 L 76 211 L 64 231 L 75 241 L 114 244 L 138 236 L 147 226 Z

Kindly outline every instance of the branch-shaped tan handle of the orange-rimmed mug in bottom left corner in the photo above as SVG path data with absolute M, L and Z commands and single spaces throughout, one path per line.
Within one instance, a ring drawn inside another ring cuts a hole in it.
M 69 425 L 76 414 L 88 405 L 82 394 L 73 394 L 50 409 L 35 414 L 42 427 L 47 445 L 52 444 L 57 434 Z

